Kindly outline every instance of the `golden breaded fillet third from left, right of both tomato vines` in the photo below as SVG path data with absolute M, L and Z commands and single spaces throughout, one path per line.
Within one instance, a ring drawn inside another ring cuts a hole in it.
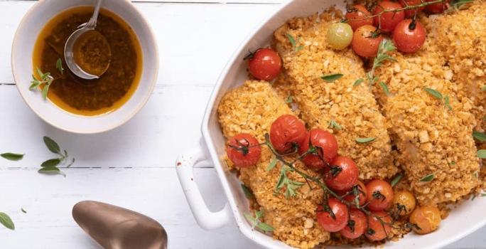
M 422 205 L 458 201 L 479 184 L 472 101 L 458 95 L 436 51 L 426 43 L 418 53 L 394 53 L 397 61 L 377 70 L 391 92 L 387 96 L 377 90 L 377 95 L 392 124 L 397 159 Z M 441 99 L 424 88 L 436 90 Z

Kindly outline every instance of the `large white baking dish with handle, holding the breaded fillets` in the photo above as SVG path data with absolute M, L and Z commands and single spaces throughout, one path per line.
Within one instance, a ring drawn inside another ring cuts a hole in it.
M 205 229 L 214 229 L 229 223 L 232 216 L 237 222 L 239 230 L 255 243 L 266 248 L 290 248 L 279 240 L 253 231 L 249 223 L 245 221 L 243 213 L 249 211 L 247 198 L 244 197 L 240 182 L 230 172 L 225 172 L 221 161 L 225 153 L 225 138 L 222 136 L 220 125 L 217 122 L 217 105 L 222 96 L 229 89 L 236 88 L 247 80 L 246 65 L 242 58 L 247 51 L 267 46 L 273 32 L 288 18 L 295 16 L 309 16 L 316 11 L 323 11 L 332 5 L 344 9 L 342 1 L 330 0 L 293 0 L 281 6 L 276 13 L 266 19 L 238 48 L 229 60 L 225 70 L 222 71 L 212 92 L 204 120 L 202 121 L 202 137 L 204 141 L 200 147 L 196 147 L 178 158 L 176 169 L 180 184 L 183 187 L 189 206 L 193 211 L 196 221 Z M 228 199 L 228 204 L 221 211 L 210 211 L 200 196 L 197 184 L 193 181 L 193 166 L 198 161 L 212 159 L 221 181 L 222 187 Z M 486 198 L 476 198 L 474 201 L 465 201 L 458 208 L 453 209 L 450 216 L 442 221 L 441 227 L 435 233 L 428 235 L 415 235 L 410 233 L 398 242 L 388 242 L 384 248 L 441 248 L 465 235 L 473 233 L 486 224 Z

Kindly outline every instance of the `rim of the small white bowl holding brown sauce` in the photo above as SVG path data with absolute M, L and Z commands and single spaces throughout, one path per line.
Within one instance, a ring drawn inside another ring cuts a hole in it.
M 155 33 L 153 32 L 152 26 L 149 25 L 149 23 L 146 20 L 146 18 L 144 17 L 144 15 L 141 13 L 141 11 L 131 1 L 124 0 L 124 2 L 127 3 L 128 6 L 131 7 L 131 10 L 134 11 L 137 16 L 141 17 L 140 21 L 142 23 L 144 23 L 144 26 L 146 26 L 148 28 L 148 39 L 153 41 L 153 43 L 155 45 L 154 49 L 153 49 L 153 54 L 155 55 L 155 58 L 154 58 L 155 59 L 155 65 L 153 65 L 154 70 L 153 70 L 153 73 L 152 73 L 153 74 L 153 80 L 150 83 L 150 85 L 148 85 L 148 91 L 150 92 L 150 94 L 146 94 L 146 96 L 144 96 L 144 98 L 137 104 L 138 106 L 136 107 L 136 109 L 133 112 L 125 115 L 125 117 L 122 120 L 120 120 L 119 122 L 117 122 L 115 124 L 107 125 L 106 127 L 103 127 L 102 129 L 92 129 L 92 130 L 89 130 L 89 131 L 79 131 L 79 130 L 76 130 L 76 129 L 70 129 L 69 127 L 59 126 L 58 124 L 55 124 L 55 122 L 51 122 L 48 119 L 46 119 L 45 117 L 43 117 L 43 115 L 41 115 L 36 110 L 36 108 L 33 107 L 33 105 L 31 105 L 31 103 L 26 100 L 26 96 L 23 95 L 23 91 L 21 90 L 21 86 L 20 86 L 20 84 L 18 84 L 18 82 L 19 82 L 18 76 L 16 75 L 15 55 L 16 55 L 16 53 L 18 53 L 18 52 L 16 52 L 16 49 L 20 49 L 20 48 L 17 48 L 17 46 L 16 46 L 16 44 L 17 44 L 16 41 L 18 39 L 18 36 L 20 36 L 20 33 L 23 29 L 23 26 L 26 23 L 26 21 L 28 20 L 28 18 L 30 18 L 31 14 L 34 11 L 37 11 L 37 9 L 40 8 L 40 6 L 42 6 L 42 4 L 45 4 L 46 1 L 49 1 L 49 0 L 38 0 L 36 2 L 36 4 L 31 6 L 30 9 L 28 9 L 26 14 L 23 15 L 20 23 L 18 24 L 18 26 L 16 28 L 15 34 L 13 35 L 13 41 L 12 41 L 12 46 L 11 46 L 11 71 L 12 71 L 12 75 L 13 75 L 13 81 L 15 82 L 16 88 L 18 90 L 18 93 L 21 95 L 23 102 L 25 102 L 26 105 L 37 115 L 37 117 L 41 118 L 41 120 L 43 120 L 44 122 L 50 124 L 51 126 L 57 128 L 57 129 L 65 131 L 65 132 L 71 132 L 71 133 L 75 133 L 75 134 L 98 134 L 98 133 L 102 133 L 102 132 L 107 132 L 107 131 L 115 129 L 117 127 L 121 127 L 123 124 L 125 124 L 126 122 L 131 120 L 133 117 L 135 117 L 135 115 L 137 115 L 140 112 L 140 110 L 148 102 L 148 99 L 150 99 L 152 92 L 153 92 L 153 89 L 156 87 L 156 83 L 157 83 L 157 80 L 158 80 L 158 70 L 159 70 L 160 58 L 159 58 L 159 55 L 158 55 L 158 46 L 157 46 L 157 42 L 156 42 L 156 36 L 155 36 Z M 72 6 L 72 7 L 75 7 L 75 6 Z M 58 108 L 60 108 L 60 107 L 58 107 Z M 106 115 L 109 115 L 109 113 L 106 114 Z M 87 116 L 87 117 L 81 116 L 81 117 L 82 118 L 91 118 L 90 116 Z

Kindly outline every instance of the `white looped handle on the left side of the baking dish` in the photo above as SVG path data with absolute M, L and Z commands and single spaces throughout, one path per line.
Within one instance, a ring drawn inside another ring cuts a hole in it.
M 190 210 L 193 211 L 195 220 L 199 226 L 206 230 L 220 228 L 229 223 L 231 209 L 228 203 L 222 210 L 212 212 L 206 206 L 204 199 L 199 191 L 198 185 L 194 181 L 193 166 L 199 161 L 205 160 L 205 154 L 200 147 L 190 150 L 178 157 L 175 162 L 175 169 L 179 177 L 180 185 L 183 188 L 185 198 L 188 200 Z

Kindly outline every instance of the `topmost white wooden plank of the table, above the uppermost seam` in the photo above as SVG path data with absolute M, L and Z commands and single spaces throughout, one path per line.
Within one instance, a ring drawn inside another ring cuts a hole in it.
M 0 1 L 0 83 L 13 83 L 11 43 L 33 1 Z M 158 85 L 212 85 L 239 43 L 276 4 L 136 3 L 158 40 Z M 28 85 L 28 83 L 26 83 Z

